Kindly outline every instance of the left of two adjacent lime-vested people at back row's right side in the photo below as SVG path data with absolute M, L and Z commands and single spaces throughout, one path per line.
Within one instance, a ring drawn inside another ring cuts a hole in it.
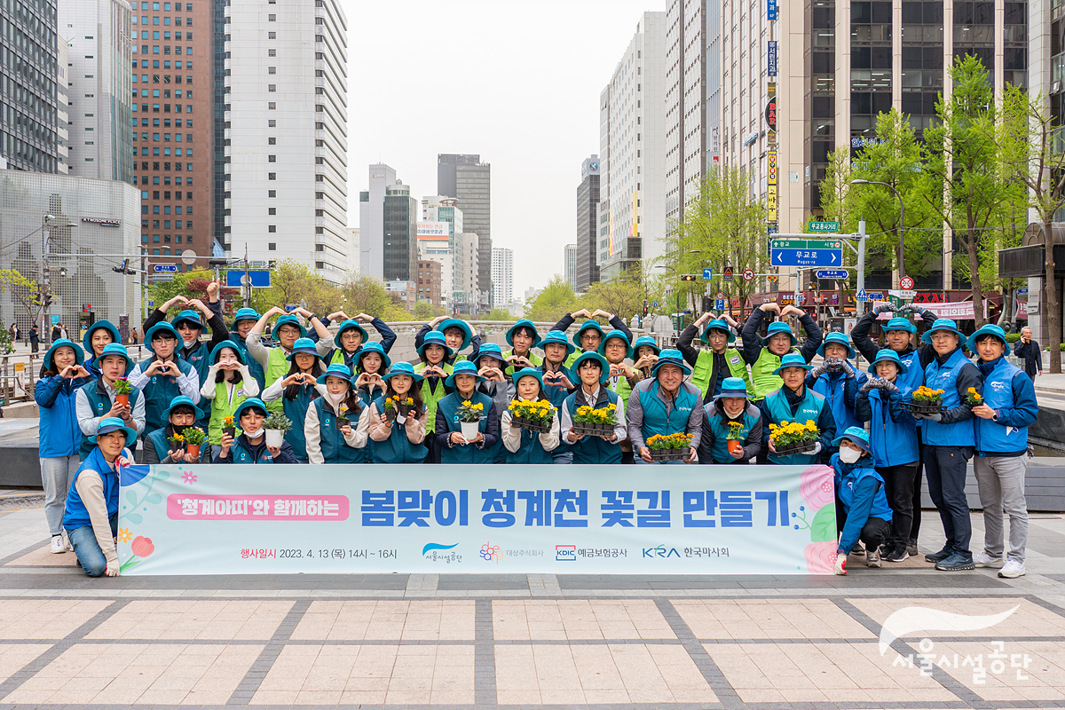
M 676 347 L 684 354 L 684 361 L 691 365 L 691 383 L 699 387 L 704 404 L 711 403 L 714 398 L 721 394 L 721 386 L 728 377 L 743 380 L 748 392 L 754 393 L 743 354 L 736 348 L 728 347 L 736 342 L 736 333 L 733 330 L 736 325 L 727 314 L 714 318 L 712 313 L 704 313 L 699 320 L 681 331 L 681 337 L 676 341 Z M 710 346 L 709 349 L 697 349 L 691 344 L 700 328 L 703 328 L 700 340 Z

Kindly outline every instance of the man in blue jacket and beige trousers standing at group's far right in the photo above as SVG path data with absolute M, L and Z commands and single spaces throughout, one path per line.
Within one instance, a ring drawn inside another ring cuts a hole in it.
M 977 457 L 972 468 L 984 509 L 984 548 L 973 556 L 981 567 L 1001 567 L 998 576 L 1015 579 L 1025 574 L 1028 545 L 1028 427 L 1039 415 L 1032 378 L 1006 362 L 1005 332 L 986 325 L 969 336 L 977 368 L 984 378 L 983 401 L 976 415 Z M 1003 561 L 1002 515 L 1010 516 L 1010 549 Z

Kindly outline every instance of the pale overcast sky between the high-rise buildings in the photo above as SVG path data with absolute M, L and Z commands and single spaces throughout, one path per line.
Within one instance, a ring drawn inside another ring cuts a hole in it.
M 641 13 L 666 0 L 341 1 L 348 224 L 372 163 L 421 202 L 437 194 L 438 153 L 477 153 L 492 165 L 492 246 L 513 249 L 514 298 L 561 274 L 580 164 L 599 153 L 600 92 Z

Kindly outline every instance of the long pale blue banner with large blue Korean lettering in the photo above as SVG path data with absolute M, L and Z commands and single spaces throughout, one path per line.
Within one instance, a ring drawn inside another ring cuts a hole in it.
M 832 574 L 828 466 L 152 465 L 124 575 Z

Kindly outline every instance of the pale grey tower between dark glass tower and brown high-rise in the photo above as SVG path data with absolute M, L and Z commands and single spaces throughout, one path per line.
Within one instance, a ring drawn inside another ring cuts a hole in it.
M 140 3 L 137 4 L 140 5 Z M 170 5 L 168 2 L 164 4 Z M 83 178 L 132 182 L 133 129 L 130 128 L 130 122 L 133 112 L 133 99 L 131 98 L 133 13 L 130 3 L 126 0 L 59 0 L 58 14 L 60 44 L 66 46 L 68 53 L 68 66 L 66 67 L 69 102 L 67 106 L 69 116 L 69 125 L 67 126 L 68 172 Z M 159 14 L 157 13 L 157 15 Z M 167 19 L 179 17 L 173 11 L 169 16 L 166 14 L 161 16 L 167 17 Z M 149 17 L 153 17 L 153 15 L 149 15 Z M 137 27 L 145 26 L 138 22 Z M 166 32 L 167 30 L 173 32 L 170 42 L 177 43 L 178 28 L 174 24 L 169 27 L 161 24 L 153 30 L 145 31 L 170 34 L 170 32 Z M 140 32 L 141 30 L 137 31 L 138 35 Z M 184 34 L 182 34 L 181 44 L 187 47 L 187 43 L 191 42 L 186 39 L 189 30 L 182 30 L 182 32 Z M 203 38 L 207 39 L 207 36 Z M 140 40 L 138 36 L 137 42 L 140 43 Z M 145 42 L 155 40 L 145 39 Z M 173 45 L 173 47 L 177 46 L 177 44 Z M 171 54 L 169 57 L 166 57 L 165 54 L 161 56 L 171 61 L 177 59 L 176 54 Z M 204 68 L 207 66 L 204 63 Z M 159 73 L 159 71 L 154 71 L 147 76 L 155 77 Z M 140 79 L 140 73 L 137 78 Z M 175 94 L 173 98 L 177 101 L 176 84 L 137 81 L 137 86 L 143 86 L 150 94 L 164 88 L 173 89 Z M 190 89 L 183 88 L 182 90 Z M 154 102 L 154 97 L 151 98 Z M 184 98 L 186 97 L 182 98 L 183 101 Z M 136 100 L 140 101 L 140 96 Z M 145 100 L 148 100 L 148 97 Z M 207 122 L 204 122 L 206 126 Z M 138 141 L 137 144 L 143 145 L 144 142 Z M 165 143 L 160 145 L 173 148 L 174 155 L 171 158 L 176 159 L 177 142 L 171 141 L 170 144 L 169 146 L 166 146 Z M 158 147 L 154 143 L 147 147 L 151 146 Z M 184 147 L 184 144 L 182 146 Z M 182 156 L 182 159 L 184 158 L 186 156 Z M 147 159 L 146 155 L 145 160 Z M 204 221 L 203 228 L 202 233 L 207 234 L 207 221 Z M 202 244 L 206 246 L 207 242 Z

